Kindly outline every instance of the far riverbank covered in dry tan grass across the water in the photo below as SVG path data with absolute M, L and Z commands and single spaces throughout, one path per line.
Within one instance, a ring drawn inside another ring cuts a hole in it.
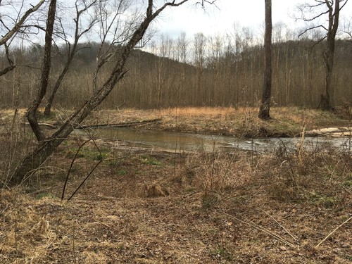
M 257 108 L 170 108 L 161 110 L 124 109 L 95 111 L 83 125 L 156 120 L 138 127 L 234 137 L 297 137 L 303 132 L 326 127 L 351 127 L 352 117 L 303 108 L 272 108 L 272 119 L 258 118 Z M 343 117 L 343 118 L 341 118 Z M 57 120 L 57 118 L 54 118 Z

